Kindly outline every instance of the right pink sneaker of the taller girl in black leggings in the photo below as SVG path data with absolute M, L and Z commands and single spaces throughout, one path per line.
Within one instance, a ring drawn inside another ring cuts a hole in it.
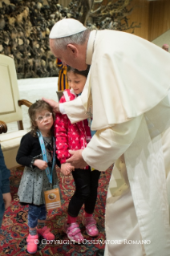
M 96 237 L 99 234 L 99 230 L 96 226 L 94 217 L 84 217 L 82 219 L 83 226 L 86 227 L 86 232 L 90 237 Z

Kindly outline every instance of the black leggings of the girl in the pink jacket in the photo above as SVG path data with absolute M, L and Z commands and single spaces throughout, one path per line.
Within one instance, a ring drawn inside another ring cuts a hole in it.
M 71 217 L 77 217 L 83 204 L 85 211 L 92 214 L 97 199 L 100 172 L 97 170 L 91 171 L 90 168 L 75 169 L 72 175 L 75 180 L 75 193 L 68 205 L 68 214 Z

